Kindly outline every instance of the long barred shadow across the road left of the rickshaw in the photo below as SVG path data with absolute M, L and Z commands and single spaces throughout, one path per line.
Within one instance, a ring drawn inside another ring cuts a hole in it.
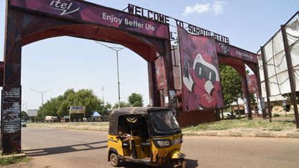
M 64 147 L 49 147 L 43 149 L 29 149 L 24 150 L 29 156 L 48 156 L 55 155 L 60 153 L 70 153 L 77 151 L 90 151 L 95 149 L 107 148 L 107 140 L 101 142 L 91 142 L 91 143 L 82 143 L 82 144 L 73 144 Z M 104 145 L 102 143 L 105 143 Z

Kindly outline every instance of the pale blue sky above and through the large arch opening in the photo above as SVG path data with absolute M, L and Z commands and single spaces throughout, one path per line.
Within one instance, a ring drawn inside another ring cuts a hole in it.
M 231 45 L 253 53 L 299 10 L 298 0 L 88 1 L 118 10 L 132 3 L 224 35 Z M 6 1 L 1 0 L 0 61 L 3 61 L 5 16 Z M 128 48 L 118 54 L 121 100 L 127 101 L 129 95 L 139 93 L 147 106 L 147 62 Z M 28 44 L 22 48 L 21 86 L 22 110 L 38 109 L 42 104 L 42 94 L 35 91 L 46 91 L 46 102 L 68 88 L 75 91 L 91 88 L 99 98 L 104 97 L 105 102 L 114 105 L 118 101 L 116 53 L 95 41 L 73 37 L 55 37 Z

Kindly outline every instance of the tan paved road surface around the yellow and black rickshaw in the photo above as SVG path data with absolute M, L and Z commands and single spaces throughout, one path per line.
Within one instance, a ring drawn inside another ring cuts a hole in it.
M 22 147 L 33 158 L 19 167 L 111 167 L 107 133 L 27 127 Z M 185 137 L 188 167 L 298 167 L 299 140 Z M 123 167 L 143 167 L 124 164 Z

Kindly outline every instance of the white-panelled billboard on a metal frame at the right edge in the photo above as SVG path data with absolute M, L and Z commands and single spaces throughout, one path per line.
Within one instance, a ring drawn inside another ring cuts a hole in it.
M 296 83 L 296 91 L 299 91 L 299 19 L 294 19 L 286 26 L 287 44 L 291 54 L 291 67 L 293 68 L 293 76 Z M 289 68 L 287 65 L 286 51 L 284 50 L 284 40 L 282 30 L 278 30 L 276 34 L 262 47 L 264 50 L 265 62 L 262 62 L 262 52 L 258 52 L 260 81 L 262 85 L 262 97 L 266 97 L 266 80 L 264 73 L 268 75 L 269 80 L 269 96 L 282 95 L 291 93 Z M 266 65 L 266 70 L 263 68 Z

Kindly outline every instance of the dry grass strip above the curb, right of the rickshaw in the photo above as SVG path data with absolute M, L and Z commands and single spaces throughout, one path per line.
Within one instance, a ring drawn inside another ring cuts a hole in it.
M 183 128 L 183 131 L 219 131 L 228 129 L 259 129 L 263 131 L 283 131 L 296 129 L 296 124 L 292 122 L 279 122 L 269 120 L 222 120 L 220 122 L 210 122 L 193 125 Z

